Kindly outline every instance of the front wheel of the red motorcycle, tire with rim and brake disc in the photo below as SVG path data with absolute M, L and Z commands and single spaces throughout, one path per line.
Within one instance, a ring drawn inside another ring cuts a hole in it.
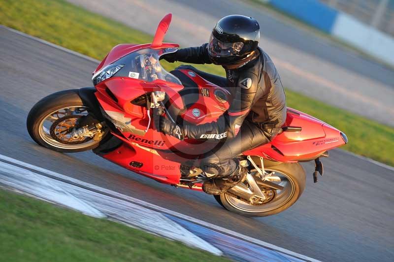
M 100 141 L 94 141 L 91 138 L 80 138 L 74 141 L 66 135 L 62 140 L 54 135 L 54 125 L 60 126 L 57 130 L 59 133 L 59 130 L 66 130 L 79 118 L 87 115 L 88 111 L 89 108 L 84 105 L 77 89 L 60 91 L 42 98 L 33 106 L 27 117 L 27 129 L 37 144 L 58 152 L 73 153 L 91 150 L 98 147 Z M 67 131 L 62 132 L 67 133 Z

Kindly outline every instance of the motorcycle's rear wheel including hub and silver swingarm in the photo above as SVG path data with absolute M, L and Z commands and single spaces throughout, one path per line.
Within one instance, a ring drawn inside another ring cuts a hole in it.
M 271 183 L 283 187 L 282 190 L 264 188 L 258 183 L 261 179 L 257 171 L 248 174 L 246 180 L 237 185 L 248 200 L 230 192 L 214 196 L 227 210 L 248 217 L 265 217 L 280 213 L 292 206 L 305 188 L 306 174 L 298 163 L 283 163 L 265 168 L 271 173 L 265 178 Z

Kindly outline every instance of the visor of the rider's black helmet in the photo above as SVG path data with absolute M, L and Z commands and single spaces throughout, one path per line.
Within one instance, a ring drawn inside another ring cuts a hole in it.
M 242 42 L 226 43 L 218 40 L 211 34 L 208 44 L 208 53 L 212 57 L 230 57 L 239 55 L 243 48 Z

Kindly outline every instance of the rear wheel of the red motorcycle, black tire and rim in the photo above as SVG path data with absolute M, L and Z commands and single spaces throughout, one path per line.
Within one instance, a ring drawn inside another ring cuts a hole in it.
M 267 194 L 268 200 L 263 204 L 251 204 L 250 202 L 240 199 L 231 193 L 225 193 L 214 196 L 215 199 L 227 210 L 247 216 L 247 217 L 265 217 L 280 213 L 292 206 L 301 196 L 305 189 L 306 174 L 299 163 L 283 163 L 265 168 L 265 171 L 274 171 L 275 178 L 280 178 L 279 185 L 284 189 L 274 190 Z M 254 176 L 255 179 L 259 179 Z M 271 181 L 272 182 L 272 181 Z M 250 188 L 247 180 L 239 185 Z M 261 186 L 259 186 L 262 190 Z M 262 190 L 264 192 L 264 190 Z M 267 191 L 265 190 L 265 193 Z

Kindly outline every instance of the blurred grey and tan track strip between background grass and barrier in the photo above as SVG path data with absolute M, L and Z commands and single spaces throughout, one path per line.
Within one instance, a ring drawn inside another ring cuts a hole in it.
M 67 1 L 150 34 L 172 13 L 165 40 L 181 47 L 207 42 L 223 16 L 253 16 L 261 25 L 260 46 L 274 61 L 285 87 L 394 126 L 394 70 L 300 29 L 267 8 L 241 0 L 122 0 L 110 6 L 107 0 Z

